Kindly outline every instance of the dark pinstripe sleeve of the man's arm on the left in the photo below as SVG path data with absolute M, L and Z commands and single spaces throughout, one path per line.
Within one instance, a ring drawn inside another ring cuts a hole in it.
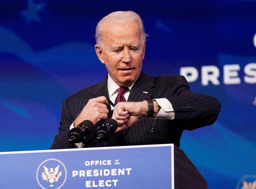
M 67 99 L 63 101 L 61 108 L 61 122 L 59 127 L 59 134 L 54 137 L 54 141 L 50 149 L 68 148 L 68 132 L 70 125 L 74 122 L 67 104 Z M 74 145 L 76 147 L 76 145 Z

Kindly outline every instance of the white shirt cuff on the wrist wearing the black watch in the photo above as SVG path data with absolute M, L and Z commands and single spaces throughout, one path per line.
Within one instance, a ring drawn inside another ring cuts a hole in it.
M 158 105 L 161 107 L 161 110 L 159 110 L 157 119 L 163 119 L 163 120 L 173 120 L 175 113 L 174 109 L 172 107 L 172 103 L 167 100 L 166 98 L 155 98 L 153 100 L 156 100 Z

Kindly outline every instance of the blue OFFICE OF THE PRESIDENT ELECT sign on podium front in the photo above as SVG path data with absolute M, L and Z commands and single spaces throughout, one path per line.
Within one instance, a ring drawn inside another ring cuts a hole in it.
M 174 146 L 143 145 L 0 153 L 0 186 L 174 188 Z

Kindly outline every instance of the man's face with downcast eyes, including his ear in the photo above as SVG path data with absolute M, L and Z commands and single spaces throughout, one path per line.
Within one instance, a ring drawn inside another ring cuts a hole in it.
M 109 22 L 103 31 L 104 48 L 95 45 L 100 61 L 119 86 L 134 83 L 142 68 L 146 44 L 142 42 L 137 20 L 116 24 Z

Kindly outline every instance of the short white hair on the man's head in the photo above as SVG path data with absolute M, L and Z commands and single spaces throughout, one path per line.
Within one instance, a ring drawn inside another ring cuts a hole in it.
M 145 34 L 143 22 L 139 14 L 133 11 L 116 11 L 116 12 L 111 12 L 110 14 L 105 16 L 97 24 L 96 32 L 95 32 L 96 44 L 100 45 L 101 48 L 104 47 L 102 34 L 103 34 L 103 27 L 107 24 L 107 22 L 111 21 L 114 23 L 124 23 L 127 21 L 133 21 L 133 20 L 138 20 L 139 26 L 140 26 L 141 39 L 143 43 L 145 43 L 146 37 L 148 35 Z

